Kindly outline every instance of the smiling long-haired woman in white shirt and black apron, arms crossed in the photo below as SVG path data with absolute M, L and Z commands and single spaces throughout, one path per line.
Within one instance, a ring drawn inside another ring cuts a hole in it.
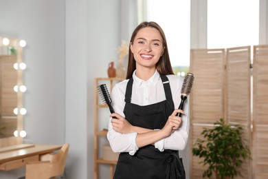
M 185 178 L 178 152 L 189 131 L 186 113 L 177 109 L 182 83 L 172 72 L 163 30 L 155 22 L 139 24 L 131 36 L 126 80 L 111 92 L 116 118 L 109 121 L 107 138 L 120 152 L 115 179 Z

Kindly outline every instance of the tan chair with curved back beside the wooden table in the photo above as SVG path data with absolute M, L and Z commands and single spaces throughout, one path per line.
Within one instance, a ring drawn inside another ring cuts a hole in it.
M 65 143 L 56 154 L 45 154 L 41 161 L 27 163 L 25 179 L 49 179 L 62 175 L 68 151 L 69 144 Z

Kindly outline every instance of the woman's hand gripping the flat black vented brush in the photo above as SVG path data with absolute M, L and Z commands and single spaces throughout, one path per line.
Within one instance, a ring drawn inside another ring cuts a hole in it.
M 129 134 L 132 131 L 133 125 L 129 123 L 125 118 L 123 118 L 118 113 L 113 113 L 110 117 L 116 117 L 111 119 L 111 124 L 113 126 L 113 130 L 121 133 L 121 134 Z

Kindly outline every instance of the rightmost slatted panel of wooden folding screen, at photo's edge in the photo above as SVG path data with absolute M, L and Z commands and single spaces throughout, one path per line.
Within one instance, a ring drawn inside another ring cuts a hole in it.
M 268 45 L 254 46 L 253 178 L 268 178 Z

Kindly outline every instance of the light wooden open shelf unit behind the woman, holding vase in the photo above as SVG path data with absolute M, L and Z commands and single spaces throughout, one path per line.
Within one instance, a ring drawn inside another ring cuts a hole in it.
M 95 85 L 94 85 L 94 178 L 98 179 L 99 177 L 99 168 L 98 165 L 110 165 L 110 178 L 113 178 L 113 171 L 114 166 L 117 164 L 117 160 L 104 160 L 100 157 L 100 138 L 106 138 L 107 130 L 100 128 L 100 122 L 104 119 L 100 118 L 99 110 L 102 108 L 107 108 L 109 110 L 108 105 L 102 104 L 100 101 L 100 96 L 98 94 L 98 85 L 106 84 L 107 89 L 111 94 L 111 89 L 115 83 L 122 81 L 122 78 L 95 78 Z M 108 125 L 108 120 L 107 120 Z

